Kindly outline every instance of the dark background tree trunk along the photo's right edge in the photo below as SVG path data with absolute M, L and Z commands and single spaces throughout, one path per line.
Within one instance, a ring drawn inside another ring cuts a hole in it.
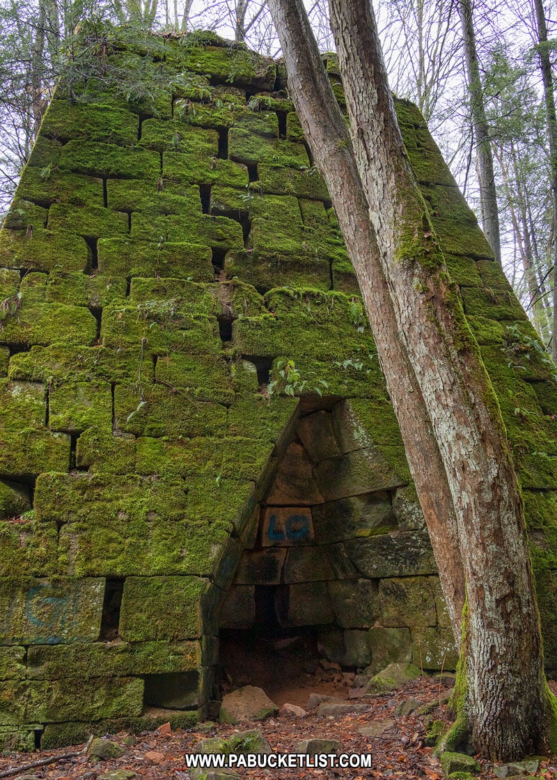
M 557 116 L 555 115 L 555 90 L 553 89 L 552 62 L 549 57 L 548 27 L 542 0 L 534 0 L 537 24 L 537 54 L 540 58 L 541 79 L 544 83 L 545 112 L 548 122 L 549 165 L 552 176 L 553 223 L 557 225 Z M 557 364 L 557 235 L 552 236 L 553 260 L 553 336 L 552 358 Z

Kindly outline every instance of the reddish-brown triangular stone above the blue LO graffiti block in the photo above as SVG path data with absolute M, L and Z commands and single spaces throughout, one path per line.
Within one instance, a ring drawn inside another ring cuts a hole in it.
M 267 503 L 271 506 L 310 506 L 322 501 L 307 452 L 294 441 L 278 466 Z

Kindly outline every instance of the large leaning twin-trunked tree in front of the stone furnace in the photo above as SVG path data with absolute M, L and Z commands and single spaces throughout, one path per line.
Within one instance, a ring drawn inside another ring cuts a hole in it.
M 371 8 L 366 0 L 331 3 L 352 147 L 301 0 L 270 5 L 290 91 L 357 272 L 420 502 L 425 509 L 432 494 L 442 495 L 454 508 L 452 548 L 461 558 L 469 616 L 459 736 L 470 734 L 488 757 L 517 757 L 540 743 L 549 717 L 520 491 L 491 384 L 406 158 Z M 347 205 L 353 192 L 360 205 L 367 201 L 364 213 Z M 431 431 L 442 460 L 435 481 L 419 474 L 420 447 Z M 434 532 L 431 543 L 441 570 L 445 541 Z M 450 590 L 445 598 L 450 605 Z

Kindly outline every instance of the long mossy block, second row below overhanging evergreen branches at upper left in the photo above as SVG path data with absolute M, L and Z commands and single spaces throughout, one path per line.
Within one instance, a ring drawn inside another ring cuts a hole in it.
M 87 140 L 69 141 L 59 151 L 56 164 L 63 171 L 121 179 L 157 179 L 161 170 L 155 151 Z

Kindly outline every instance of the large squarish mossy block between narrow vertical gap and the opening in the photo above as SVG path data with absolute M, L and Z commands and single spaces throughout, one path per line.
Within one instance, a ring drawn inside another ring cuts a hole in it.
M 204 633 L 208 586 L 195 576 L 127 577 L 120 636 L 128 642 L 196 639 Z

